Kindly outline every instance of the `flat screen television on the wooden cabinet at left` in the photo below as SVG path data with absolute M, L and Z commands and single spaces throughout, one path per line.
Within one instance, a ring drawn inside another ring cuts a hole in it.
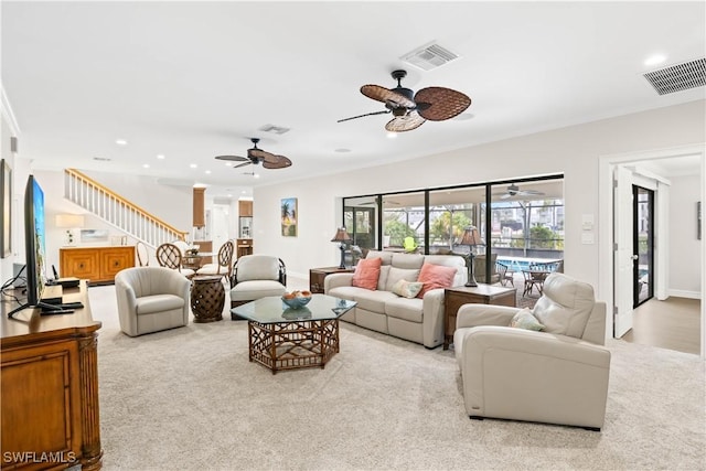
M 44 227 L 44 192 L 34 175 L 26 180 L 24 190 L 24 251 L 26 270 L 26 302 L 8 313 L 12 317 L 28 308 L 57 310 L 58 306 L 42 302 L 46 274 L 44 255 L 46 254 Z

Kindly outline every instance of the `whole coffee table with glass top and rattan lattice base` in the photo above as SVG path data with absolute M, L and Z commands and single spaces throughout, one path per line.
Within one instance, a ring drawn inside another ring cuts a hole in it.
M 291 309 L 278 296 L 231 309 L 247 319 L 249 360 L 272 371 L 323 368 L 339 352 L 339 318 L 356 302 L 312 295 L 303 308 Z

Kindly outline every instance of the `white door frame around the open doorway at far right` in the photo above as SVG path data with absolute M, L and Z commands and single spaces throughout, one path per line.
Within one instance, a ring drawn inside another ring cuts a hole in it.
M 628 152 L 600 156 L 598 160 L 598 207 L 599 207 L 599 245 L 598 245 L 598 296 L 608 304 L 606 319 L 606 338 L 613 332 L 613 165 L 652 159 L 664 159 L 685 156 L 699 156 L 700 201 L 706 201 L 706 144 L 682 146 L 644 152 Z M 702 203 L 703 204 L 703 203 Z M 702 217 L 700 240 L 700 356 L 706 357 L 706 218 Z

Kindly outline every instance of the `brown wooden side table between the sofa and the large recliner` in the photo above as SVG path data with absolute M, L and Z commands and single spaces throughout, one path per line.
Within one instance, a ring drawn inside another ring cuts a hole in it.
M 463 304 L 499 304 L 514 308 L 516 289 L 478 283 L 477 287 L 457 286 L 443 290 L 443 350 L 449 350 L 456 330 L 456 317 Z

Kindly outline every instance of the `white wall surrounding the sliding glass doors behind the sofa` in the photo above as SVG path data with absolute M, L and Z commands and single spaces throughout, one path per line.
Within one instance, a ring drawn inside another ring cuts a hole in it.
M 434 126 L 442 125 L 431 122 L 413 132 L 434 132 Z M 344 178 L 320 176 L 256 188 L 255 250 L 277 255 L 291 275 L 308 277 L 311 267 L 338 264 L 339 251 L 330 239 L 341 224 L 343 196 L 561 172 L 566 205 L 565 271 L 598 289 L 599 227 L 595 229 L 593 244 L 581 244 L 581 217 L 591 214 L 597 223 L 600 221 L 599 157 L 702 143 L 706 141 L 705 129 L 705 101 L 699 100 L 347 172 Z M 298 237 L 280 235 L 282 197 L 298 197 Z

